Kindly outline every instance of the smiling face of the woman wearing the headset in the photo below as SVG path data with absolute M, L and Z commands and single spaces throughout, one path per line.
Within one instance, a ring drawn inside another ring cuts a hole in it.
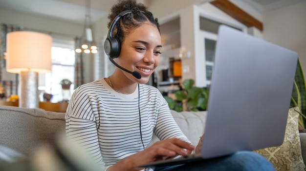
M 144 84 L 149 81 L 149 77 L 158 66 L 160 52 L 161 38 L 158 29 L 146 23 L 126 35 L 116 62 L 131 72 L 140 73 L 141 78 L 137 79 L 122 71 L 133 82 Z

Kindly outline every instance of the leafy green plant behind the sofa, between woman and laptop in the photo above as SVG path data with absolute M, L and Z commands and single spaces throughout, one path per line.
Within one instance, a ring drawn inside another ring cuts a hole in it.
M 194 83 L 193 79 L 185 79 L 182 83 L 182 90 L 175 92 L 175 99 L 164 96 L 170 109 L 177 112 L 206 110 L 208 90 L 194 87 Z

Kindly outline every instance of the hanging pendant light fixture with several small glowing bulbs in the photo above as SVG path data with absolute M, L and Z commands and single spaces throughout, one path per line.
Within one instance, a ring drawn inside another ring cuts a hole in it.
M 91 31 L 91 23 L 90 23 L 90 0 L 86 0 L 87 8 L 86 8 L 86 15 L 85 15 L 85 23 L 84 23 L 84 30 L 83 36 L 79 44 L 77 45 L 75 52 L 85 54 L 96 54 L 98 52 L 98 47 L 96 43 L 92 39 L 92 31 Z

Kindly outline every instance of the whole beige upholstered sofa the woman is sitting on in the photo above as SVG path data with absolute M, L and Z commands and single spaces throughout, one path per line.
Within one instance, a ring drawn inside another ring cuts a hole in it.
M 206 112 L 172 111 L 172 114 L 186 136 L 197 144 L 203 132 Z M 54 148 L 55 137 L 65 132 L 64 116 L 64 113 L 47 112 L 42 109 L 0 106 L 0 145 L 21 152 L 25 156 L 32 155 L 44 145 Z M 305 160 L 306 133 L 299 135 L 302 143 L 298 146 L 302 148 Z M 158 139 L 154 137 L 154 141 Z

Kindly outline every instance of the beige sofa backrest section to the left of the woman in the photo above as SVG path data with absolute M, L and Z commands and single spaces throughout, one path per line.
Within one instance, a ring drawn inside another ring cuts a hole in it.
M 0 130 L 0 145 L 29 155 L 65 131 L 65 113 L 0 106 Z

